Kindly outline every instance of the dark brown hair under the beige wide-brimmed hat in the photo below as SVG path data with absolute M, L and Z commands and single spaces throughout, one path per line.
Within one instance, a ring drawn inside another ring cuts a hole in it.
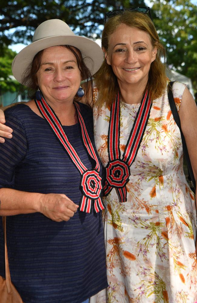
M 70 52 L 72 52 L 75 55 L 78 68 L 81 72 L 82 80 L 85 80 L 85 79 L 89 80 L 89 81 L 83 83 L 83 90 L 84 90 L 85 102 L 86 102 L 86 104 L 90 105 L 90 103 L 92 102 L 92 100 L 90 100 L 90 96 L 92 96 L 92 93 L 93 93 L 92 75 L 84 63 L 84 59 L 82 58 L 82 54 L 81 54 L 80 50 L 71 45 L 58 45 L 58 46 L 67 48 Z M 38 69 L 41 66 L 43 52 L 44 52 L 44 49 L 35 55 L 35 57 L 32 60 L 32 63 L 30 63 L 30 65 L 26 69 L 26 71 L 24 73 L 24 77 L 22 79 L 23 85 L 25 85 L 28 89 L 28 97 L 30 99 L 35 98 L 35 93 L 38 90 L 36 73 L 38 72 Z M 90 93 L 90 92 L 92 92 L 92 93 Z M 80 101 L 80 99 L 81 98 L 79 98 L 78 96 L 75 96 L 74 100 Z

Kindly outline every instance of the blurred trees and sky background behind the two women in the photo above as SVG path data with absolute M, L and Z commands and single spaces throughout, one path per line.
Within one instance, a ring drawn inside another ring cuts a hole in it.
M 10 0 L 0 2 L 0 107 L 27 101 L 17 96 L 19 83 L 12 76 L 15 55 L 32 41 L 35 28 L 45 20 L 65 21 L 75 33 L 100 44 L 104 14 L 119 8 L 151 7 L 153 22 L 167 51 L 167 75 L 186 83 L 197 95 L 197 0 Z

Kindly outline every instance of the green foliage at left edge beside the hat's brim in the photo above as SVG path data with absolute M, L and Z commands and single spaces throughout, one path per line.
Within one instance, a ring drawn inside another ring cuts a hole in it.
M 0 57 L 0 95 L 4 92 L 18 91 L 20 84 L 12 76 L 12 60 L 16 52 L 4 48 L 4 56 Z

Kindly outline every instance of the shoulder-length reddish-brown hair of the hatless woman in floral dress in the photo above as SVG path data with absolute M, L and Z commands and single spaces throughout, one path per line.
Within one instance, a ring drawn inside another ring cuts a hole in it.
M 120 15 L 109 18 L 105 23 L 101 40 L 102 48 L 104 48 L 105 51 L 109 49 L 110 36 L 120 24 L 125 24 L 147 32 L 151 39 L 152 48 L 157 48 L 156 59 L 151 63 L 149 79 L 146 86 L 146 89 L 149 89 L 151 99 L 155 100 L 162 95 L 166 87 L 165 63 L 162 63 L 162 61 L 166 61 L 166 53 L 164 46 L 159 41 L 156 28 L 148 15 L 125 10 Z M 110 106 L 119 90 L 118 81 L 111 65 L 108 65 L 106 60 L 104 60 L 101 68 L 94 77 L 95 85 L 99 89 L 97 104 L 102 106 L 105 103 L 106 106 Z

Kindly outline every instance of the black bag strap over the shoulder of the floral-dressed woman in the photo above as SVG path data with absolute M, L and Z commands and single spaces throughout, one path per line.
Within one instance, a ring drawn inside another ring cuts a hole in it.
M 189 186 L 192 189 L 192 191 L 195 193 L 196 184 L 195 184 L 194 173 L 193 173 L 192 165 L 191 165 L 191 162 L 190 162 L 190 159 L 189 159 L 189 154 L 188 154 L 185 138 L 184 138 L 184 135 L 183 135 L 183 132 L 182 132 L 182 129 L 181 129 L 181 122 L 180 122 L 180 118 L 179 118 L 179 113 L 177 111 L 174 96 L 173 96 L 173 92 L 172 92 L 172 85 L 173 85 L 174 82 L 175 81 L 171 81 L 168 84 L 168 100 L 169 100 L 169 105 L 170 105 L 170 109 L 171 109 L 173 118 L 174 118 L 177 126 L 179 127 L 179 130 L 180 130 L 180 133 L 181 133 L 183 154 L 185 156 L 185 160 L 187 162 L 187 168 L 188 168 Z

